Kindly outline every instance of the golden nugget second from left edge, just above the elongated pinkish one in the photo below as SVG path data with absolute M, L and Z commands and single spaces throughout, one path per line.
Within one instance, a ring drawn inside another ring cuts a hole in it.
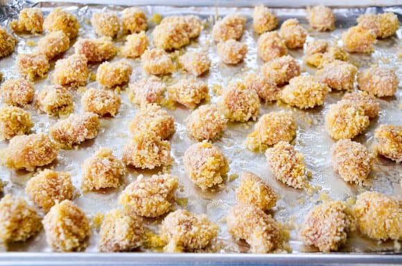
M 37 93 L 35 105 L 38 111 L 50 116 L 65 116 L 74 110 L 73 97 L 60 85 L 45 86 Z

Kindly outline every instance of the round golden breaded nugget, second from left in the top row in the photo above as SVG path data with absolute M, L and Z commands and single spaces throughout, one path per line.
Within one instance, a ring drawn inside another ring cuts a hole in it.
M 78 35 L 80 24 L 76 16 L 61 8 L 55 8 L 44 19 L 43 27 L 48 32 L 62 30 L 70 39 L 74 39 Z

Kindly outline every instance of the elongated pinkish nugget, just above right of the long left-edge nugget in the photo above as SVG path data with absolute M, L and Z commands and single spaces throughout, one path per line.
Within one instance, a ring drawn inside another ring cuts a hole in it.
M 88 139 L 95 139 L 99 132 L 99 117 L 94 113 L 70 114 L 55 123 L 49 130 L 54 141 L 64 148 L 71 148 Z

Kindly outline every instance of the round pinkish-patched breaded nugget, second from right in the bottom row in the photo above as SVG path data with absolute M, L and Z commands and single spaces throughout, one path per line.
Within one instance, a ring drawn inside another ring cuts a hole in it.
M 337 251 L 355 229 L 349 206 L 340 201 L 324 202 L 308 212 L 300 236 L 305 245 L 322 252 Z

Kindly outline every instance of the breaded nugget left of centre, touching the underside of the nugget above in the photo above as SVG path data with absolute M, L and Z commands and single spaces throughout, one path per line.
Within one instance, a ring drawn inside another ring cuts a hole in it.
M 125 145 L 122 160 L 127 166 L 141 169 L 170 166 L 173 162 L 171 143 L 149 130 L 138 131 Z

